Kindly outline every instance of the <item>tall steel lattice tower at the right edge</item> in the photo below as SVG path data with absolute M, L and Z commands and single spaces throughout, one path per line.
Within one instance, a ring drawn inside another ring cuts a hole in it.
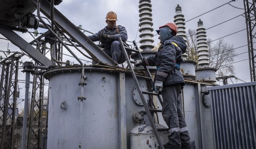
M 256 0 L 243 0 L 245 9 L 245 21 L 247 29 L 247 44 L 248 44 L 248 54 L 249 54 L 249 66 L 250 66 L 250 80 L 256 81 L 256 55 L 253 47 L 253 42 L 256 38 Z M 254 33 L 255 32 L 255 33 Z

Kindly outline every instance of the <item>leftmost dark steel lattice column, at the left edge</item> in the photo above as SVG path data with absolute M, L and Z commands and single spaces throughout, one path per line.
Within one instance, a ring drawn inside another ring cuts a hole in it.
M 2 76 L 0 82 L 0 116 L 2 127 L 0 126 L 1 142 L 0 148 L 13 148 L 14 129 L 15 129 L 15 111 L 17 102 L 17 88 L 18 88 L 18 70 L 19 59 L 24 54 L 14 53 L 2 62 Z M 11 124 L 7 124 L 7 120 Z

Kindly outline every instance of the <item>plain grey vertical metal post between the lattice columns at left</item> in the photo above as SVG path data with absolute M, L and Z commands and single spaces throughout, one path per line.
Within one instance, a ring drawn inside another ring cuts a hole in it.
M 28 121 L 28 93 L 30 85 L 30 72 L 26 72 L 26 82 L 25 82 L 25 99 L 24 99 L 24 115 L 23 115 L 23 128 L 22 128 L 22 143 L 21 149 L 26 147 L 26 131 L 27 131 L 27 121 Z

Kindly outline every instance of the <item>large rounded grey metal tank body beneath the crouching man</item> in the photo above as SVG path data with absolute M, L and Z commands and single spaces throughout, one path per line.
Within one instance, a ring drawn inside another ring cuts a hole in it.
M 86 66 L 83 113 L 77 96 L 81 67 L 48 70 L 48 149 L 79 148 L 79 127 L 82 118 L 83 149 L 130 148 L 130 131 L 136 127 L 133 114 L 145 111 L 134 100 L 134 80 L 124 69 Z M 146 81 L 139 79 L 141 86 Z

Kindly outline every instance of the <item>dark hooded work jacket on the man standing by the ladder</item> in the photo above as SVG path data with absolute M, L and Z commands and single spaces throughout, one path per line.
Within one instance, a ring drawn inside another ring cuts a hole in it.
M 186 51 L 186 48 L 187 45 L 182 37 L 173 36 L 165 40 L 158 49 L 156 56 L 143 58 L 143 62 L 145 65 L 157 67 L 155 80 L 163 81 L 163 86 L 170 84 L 185 85 L 182 73 L 174 67 L 175 60 L 177 64 L 182 63 L 182 53 Z

